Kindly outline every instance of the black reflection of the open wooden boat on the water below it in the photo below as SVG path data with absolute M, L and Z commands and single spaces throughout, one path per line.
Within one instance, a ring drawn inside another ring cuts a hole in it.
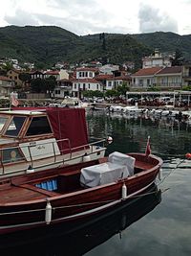
M 125 201 L 120 207 L 96 214 L 86 221 L 56 227 L 52 232 L 33 230 L 1 237 L 2 255 L 82 255 L 109 240 L 135 221 L 151 212 L 160 202 L 156 184 L 143 195 Z

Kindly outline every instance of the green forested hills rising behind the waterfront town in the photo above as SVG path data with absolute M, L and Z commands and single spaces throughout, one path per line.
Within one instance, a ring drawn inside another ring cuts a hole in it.
M 78 36 L 55 26 L 9 26 L 0 28 L 0 57 L 34 61 L 44 66 L 57 61 L 80 62 L 94 59 L 120 64 L 153 53 L 172 53 L 180 49 L 191 57 L 191 35 L 151 33 L 140 35 L 97 34 Z

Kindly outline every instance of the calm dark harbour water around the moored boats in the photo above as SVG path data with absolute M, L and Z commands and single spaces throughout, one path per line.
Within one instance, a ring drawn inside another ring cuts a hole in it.
M 87 112 L 91 137 L 112 136 L 112 151 L 145 151 L 148 135 L 151 150 L 163 161 L 160 193 L 134 200 L 124 209 L 95 220 L 70 235 L 36 241 L 39 233 L 17 237 L 32 244 L 16 245 L 2 255 L 164 256 L 191 255 L 191 126 L 173 119 L 145 119 Z M 154 188 L 156 189 L 156 188 Z M 62 230 L 60 228 L 60 230 Z M 56 236 L 55 236 L 56 235 Z M 3 243 L 3 242 L 2 242 Z

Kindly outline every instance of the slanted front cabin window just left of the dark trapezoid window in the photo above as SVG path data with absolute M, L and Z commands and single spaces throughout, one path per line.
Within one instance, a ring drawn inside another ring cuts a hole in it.
M 7 128 L 5 135 L 16 137 L 18 136 L 26 117 L 13 116 L 10 126 Z

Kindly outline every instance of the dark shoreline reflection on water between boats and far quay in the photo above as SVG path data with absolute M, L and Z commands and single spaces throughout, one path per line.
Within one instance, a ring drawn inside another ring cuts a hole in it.
M 87 120 L 91 136 L 113 137 L 107 154 L 117 149 L 144 152 L 148 136 L 151 137 L 152 152 L 161 157 L 184 157 L 191 151 L 191 125 L 174 117 L 90 111 Z

